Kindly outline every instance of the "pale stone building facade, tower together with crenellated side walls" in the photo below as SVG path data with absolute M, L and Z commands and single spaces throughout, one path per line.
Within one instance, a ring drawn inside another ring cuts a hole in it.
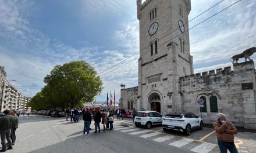
M 194 112 L 205 123 L 214 122 L 218 112 L 227 114 L 236 126 L 256 129 L 255 68 L 253 61 L 233 64 L 222 70 L 194 74 L 187 23 L 189 0 L 137 0 L 140 21 L 138 86 L 121 89 L 120 107 L 125 110 Z M 156 14 L 157 12 L 157 14 Z M 149 33 L 153 23 L 157 31 Z M 157 42 L 157 43 L 155 43 Z M 157 51 L 156 51 L 157 49 Z M 198 107 L 197 100 L 204 100 Z M 200 111 L 201 110 L 201 111 Z

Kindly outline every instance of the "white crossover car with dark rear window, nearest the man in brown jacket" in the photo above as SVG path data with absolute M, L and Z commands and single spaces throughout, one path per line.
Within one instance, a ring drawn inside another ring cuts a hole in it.
M 190 135 L 191 129 L 203 128 L 203 122 L 200 117 L 191 112 L 180 112 L 173 114 L 166 114 L 163 117 L 163 130 L 179 130 L 187 136 Z

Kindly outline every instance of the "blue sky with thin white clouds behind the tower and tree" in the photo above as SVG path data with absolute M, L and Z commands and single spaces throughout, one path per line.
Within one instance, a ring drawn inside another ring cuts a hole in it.
M 218 2 L 191 0 L 189 19 Z M 222 1 L 189 27 L 234 2 Z M 189 30 L 194 73 L 232 66 L 230 57 L 256 46 L 255 8 L 256 1 L 242 0 Z M 0 0 L 0 65 L 23 96 L 33 97 L 55 65 L 84 60 L 104 83 L 96 101 L 113 90 L 118 101 L 120 84 L 137 86 L 138 24 L 136 0 Z

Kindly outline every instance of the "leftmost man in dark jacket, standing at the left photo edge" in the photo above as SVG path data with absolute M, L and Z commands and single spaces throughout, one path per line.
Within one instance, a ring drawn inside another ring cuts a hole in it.
M 2 144 L 2 150 L 0 150 L 0 152 L 5 152 L 7 149 L 12 150 L 12 140 L 10 139 L 10 132 L 15 122 L 15 117 L 10 115 L 9 110 L 3 111 L 3 114 L 5 114 L 5 116 L 2 116 L 0 118 L 0 136 Z M 8 141 L 8 148 L 6 146 L 5 139 Z

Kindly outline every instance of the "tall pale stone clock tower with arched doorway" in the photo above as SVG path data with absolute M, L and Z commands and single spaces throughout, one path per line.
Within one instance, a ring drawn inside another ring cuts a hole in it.
M 190 55 L 190 0 L 137 0 L 140 21 L 138 110 L 183 111 L 179 78 L 193 74 Z

